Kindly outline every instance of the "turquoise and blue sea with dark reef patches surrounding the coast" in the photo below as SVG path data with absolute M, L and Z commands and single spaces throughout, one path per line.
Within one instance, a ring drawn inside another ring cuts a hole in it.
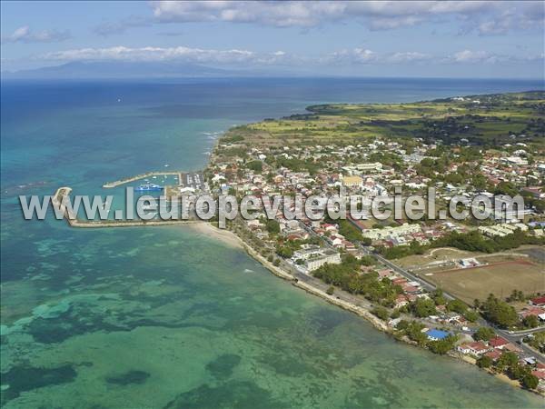
M 543 407 L 401 344 L 187 227 L 24 221 L 18 195 L 106 195 L 197 170 L 218 133 L 327 102 L 542 89 L 444 79 L 2 83 L 1 405 L 6 408 Z

